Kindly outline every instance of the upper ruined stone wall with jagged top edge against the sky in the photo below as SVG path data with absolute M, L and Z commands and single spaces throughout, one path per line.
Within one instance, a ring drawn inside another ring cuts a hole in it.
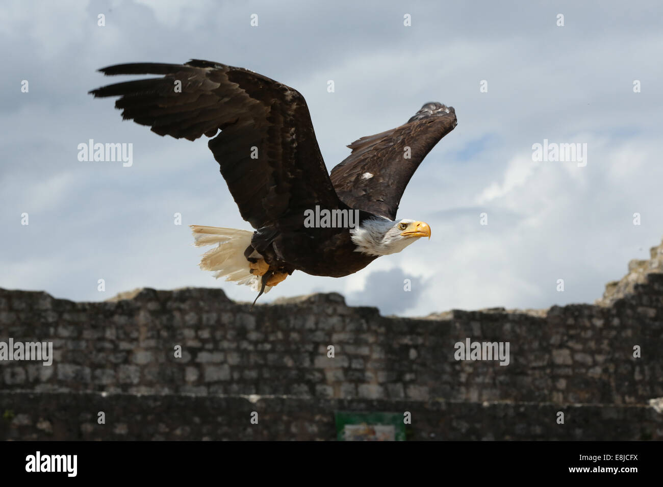
M 357 407 L 370 400 L 642 406 L 663 396 L 662 268 L 663 244 L 651 260 L 632 262 L 596 305 L 420 319 L 348 307 L 338 294 L 251 311 L 216 289 L 143 289 L 92 303 L 0 289 L 0 342 L 54 347 L 51 366 L 0 360 L 0 392 L 5 401 L 27 392 L 54 401 L 106 392 L 284 395 Z M 509 365 L 456 360 L 455 343 L 466 339 L 508 342 Z M 59 394 L 71 392 L 79 395 Z

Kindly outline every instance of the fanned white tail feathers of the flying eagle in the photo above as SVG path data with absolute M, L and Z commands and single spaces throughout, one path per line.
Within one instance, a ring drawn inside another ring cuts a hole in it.
M 225 277 L 227 281 L 246 284 L 254 291 L 260 291 L 261 277 L 251 274 L 249 261 L 244 256 L 244 251 L 251 244 L 253 232 L 202 225 L 190 225 L 190 227 L 197 247 L 219 244 L 203 254 L 199 264 L 202 270 L 216 271 L 214 277 L 217 279 Z M 271 288 L 272 286 L 265 286 L 265 292 Z

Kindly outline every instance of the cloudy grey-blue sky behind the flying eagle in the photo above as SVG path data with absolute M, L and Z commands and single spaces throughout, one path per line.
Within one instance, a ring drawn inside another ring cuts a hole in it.
M 295 272 L 261 301 L 336 291 L 398 315 L 592 302 L 663 235 L 662 13 L 656 0 L 5 0 L 0 287 L 98 301 L 220 286 L 253 300 L 198 268 L 188 225 L 250 229 L 206 142 L 162 138 L 87 94 L 111 81 L 103 66 L 199 58 L 298 89 L 330 170 L 427 101 L 457 113 L 398 213 L 427 221 L 430 241 L 346 278 Z M 132 143 L 133 166 L 80 162 L 90 138 Z M 587 144 L 587 164 L 533 161 L 544 139 Z

